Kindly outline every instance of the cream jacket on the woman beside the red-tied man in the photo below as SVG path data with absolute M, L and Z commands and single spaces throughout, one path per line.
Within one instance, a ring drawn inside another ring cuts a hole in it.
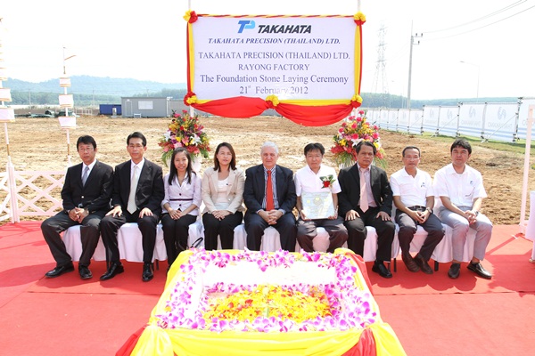
M 226 185 L 226 201 L 228 202 L 228 210 L 231 213 L 236 211 L 243 211 L 243 188 L 245 184 L 245 174 L 240 168 L 235 170 L 231 169 L 228 174 L 228 183 Z M 207 168 L 202 175 L 202 201 L 204 202 L 204 210 L 202 214 L 206 212 L 212 212 L 218 210 L 214 205 L 212 197 L 215 197 L 218 191 L 218 171 L 215 171 L 213 167 Z

